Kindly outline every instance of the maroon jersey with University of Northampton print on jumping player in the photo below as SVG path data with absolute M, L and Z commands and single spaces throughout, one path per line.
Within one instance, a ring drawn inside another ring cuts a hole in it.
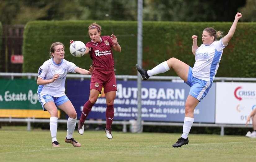
M 114 68 L 114 57 L 111 49 L 113 45 L 110 36 L 101 36 L 101 41 L 98 43 L 86 43 L 86 47 L 90 48 L 92 65 L 103 69 Z

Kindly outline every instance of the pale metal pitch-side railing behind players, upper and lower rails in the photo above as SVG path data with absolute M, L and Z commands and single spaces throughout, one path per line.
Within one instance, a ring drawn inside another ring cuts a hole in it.
M 14 79 L 14 77 L 28 77 L 28 79 L 37 79 L 37 73 L 0 73 L 1 77 L 10 77 L 10 79 Z M 81 74 L 67 74 L 67 78 L 80 78 L 81 80 L 90 79 L 91 75 L 81 75 Z M 122 80 L 136 80 L 137 75 L 116 75 L 116 79 Z M 177 76 L 152 76 L 150 80 L 181 80 L 180 77 Z M 246 82 L 256 82 L 256 78 L 231 78 L 231 77 L 215 77 L 214 81 L 246 81 Z M 35 118 L 0 118 L 2 122 L 27 122 L 27 130 L 31 129 L 31 122 L 41 122 L 48 123 L 49 119 L 35 119 Z M 67 123 L 66 119 L 58 119 L 59 123 Z M 78 122 L 78 121 L 77 121 Z M 96 124 L 101 123 L 105 124 L 106 121 L 90 121 L 87 120 L 88 124 Z M 123 125 L 123 132 L 126 132 L 126 125 L 131 125 L 131 121 L 113 121 L 113 124 Z M 148 122 L 143 121 L 143 125 L 157 125 L 157 126 L 183 126 L 182 122 Z M 220 127 L 221 132 L 220 135 L 224 135 L 225 127 L 236 127 L 236 128 L 246 128 L 245 124 L 215 124 L 215 123 L 193 123 L 193 126 L 196 127 Z M 252 125 L 249 125 L 252 126 Z M 248 126 L 248 127 L 249 127 Z

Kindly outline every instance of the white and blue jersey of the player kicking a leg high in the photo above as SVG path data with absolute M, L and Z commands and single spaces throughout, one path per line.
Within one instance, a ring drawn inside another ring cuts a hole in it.
M 226 46 L 223 45 L 222 39 L 214 41 L 211 45 L 200 45 L 200 47 L 195 50 L 195 64 L 192 69 L 193 76 L 198 79 L 213 82 L 219 67 L 223 49 Z

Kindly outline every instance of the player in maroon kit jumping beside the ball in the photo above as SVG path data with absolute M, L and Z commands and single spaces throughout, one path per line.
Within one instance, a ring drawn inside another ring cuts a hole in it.
M 83 106 L 77 130 L 79 134 L 84 133 L 84 121 L 104 86 L 107 104 L 105 133 L 108 139 L 112 139 L 111 124 L 114 119 L 114 100 L 117 91 L 112 49 L 121 52 L 121 47 L 114 34 L 111 34 L 111 37 L 101 36 L 101 26 L 97 23 L 92 23 L 88 27 L 88 33 L 91 41 L 86 44 L 85 54 L 90 54 L 94 70 L 92 72 L 89 100 Z M 70 40 L 70 44 L 73 42 L 74 40 Z

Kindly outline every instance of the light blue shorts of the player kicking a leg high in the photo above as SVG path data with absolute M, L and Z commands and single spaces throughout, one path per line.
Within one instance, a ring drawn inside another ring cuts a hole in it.
M 212 87 L 212 82 L 208 82 L 202 79 L 195 78 L 192 74 L 192 68 L 189 67 L 189 72 L 187 76 L 187 82 L 184 82 L 189 85 L 190 91 L 189 95 L 195 97 L 199 102 L 206 96 L 210 87 Z

